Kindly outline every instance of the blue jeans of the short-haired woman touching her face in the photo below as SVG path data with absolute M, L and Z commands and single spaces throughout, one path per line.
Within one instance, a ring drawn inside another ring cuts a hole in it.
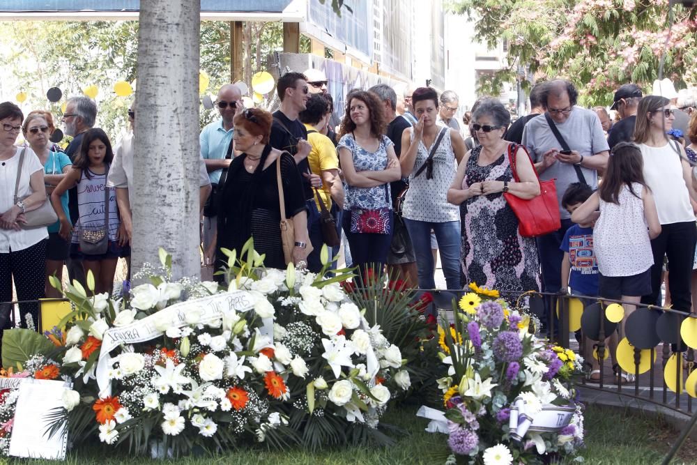
M 436 233 L 438 251 L 441 253 L 443 275 L 447 289 L 460 289 L 460 222 L 434 223 L 404 218 L 416 255 L 416 266 L 421 289 L 435 289 L 434 257 L 431 253 L 431 229 Z

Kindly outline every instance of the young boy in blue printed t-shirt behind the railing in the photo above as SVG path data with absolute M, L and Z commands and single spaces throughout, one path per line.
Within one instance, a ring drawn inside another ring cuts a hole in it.
M 573 183 L 564 192 L 562 197 L 562 207 L 569 213 L 574 213 L 576 208 L 579 208 L 583 202 L 588 200 L 593 191 L 588 184 Z M 562 275 L 561 282 L 562 292 L 568 292 L 571 287 L 572 296 L 589 296 L 595 297 L 598 295 L 598 263 L 593 252 L 593 227 L 595 220 L 589 223 L 574 224 L 567 229 L 567 232 L 562 240 L 560 249 L 564 251 L 564 259 L 562 260 Z M 582 298 L 584 306 L 592 304 L 595 299 Z M 617 347 L 617 333 L 613 333 L 605 340 L 606 347 L 610 351 L 613 361 L 613 367 L 617 365 L 615 358 L 615 348 Z M 585 350 L 583 358 L 586 363 L 591 365 L 588 381 L 598 383 L 600 381 L 600 365 L 597 360 L 597 355 L 592 351 L 595 344 L 588 338 L 585 339 Z M 626 375 L 623 381 L 627 381 Z

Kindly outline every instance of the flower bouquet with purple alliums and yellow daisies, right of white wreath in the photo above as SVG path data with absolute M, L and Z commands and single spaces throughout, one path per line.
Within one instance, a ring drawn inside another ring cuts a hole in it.
M 448 434 L 451 462 L 537 464 L 583 445 L 572 377 L 583 360 L 528 332 L 529 317 L 494 290 L 470 284 L 454 323 L 438 328 L 445 413 L 422 407 L 429 431 Z

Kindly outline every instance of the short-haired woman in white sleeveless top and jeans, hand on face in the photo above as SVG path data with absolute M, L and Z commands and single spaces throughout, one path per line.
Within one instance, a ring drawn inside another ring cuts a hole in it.
M 466 153 L 460 132 L 438 124 L 438 93 L 420 87 L 411 94 L 418 123 L 401 135 L 401 175 L 409 177 L 402 216 L 416 254 L 421 289 L 434 289 L 431 230 L 441 251 L 448 289 L 460 289 L 460 213 L 447 201 L 457 163 Z

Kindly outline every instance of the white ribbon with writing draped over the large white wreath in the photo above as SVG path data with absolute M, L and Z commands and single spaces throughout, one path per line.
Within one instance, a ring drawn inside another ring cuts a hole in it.
M 102 337 L 102 347 L 99 354 L 95 377 L 99 386 L 100 397 L 111 394 L 112 380 L 108 372 L 111 365 L 109 353 L 121 344 L 136 344 L 159 337 L 168 328 L 183 328 L 194 323 L 210 323 L 222 319 L 230 310 L 246 312 L 254 305 L 254 298 L 247 291 L 232 291 L 213 296 L 187 300 L 164 308 L 144 319 L 133 321 L 126 326 L 109 328 Z M 192 319 L 191 314 L 198 312 L 199 316 Z M 187 321 L 187 314 L 190 318 Z

